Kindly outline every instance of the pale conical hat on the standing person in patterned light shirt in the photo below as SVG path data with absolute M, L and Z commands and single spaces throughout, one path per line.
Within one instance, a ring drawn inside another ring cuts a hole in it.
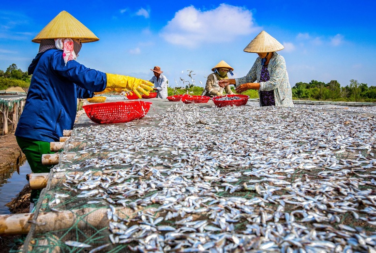
M 269 53 L 284 49 L 285 47 L 266 31 L 261 31 L 245 48 L 244 52 Z

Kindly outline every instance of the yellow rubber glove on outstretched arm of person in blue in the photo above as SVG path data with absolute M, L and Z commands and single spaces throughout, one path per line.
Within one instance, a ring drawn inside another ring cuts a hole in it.
M 119 92 L 119 90 L 132 90 L 137 97 L 141 98 L 140 93 L 144 93 L 149 96 L 148 90 L 153 90 L 153 83 L 149 81 L 138 79 L 132 76 L 120 75 L 120 74 L 108 74 L 106 89 L 113 89 Z M 105 89 L 105 90 L 106 90 Z

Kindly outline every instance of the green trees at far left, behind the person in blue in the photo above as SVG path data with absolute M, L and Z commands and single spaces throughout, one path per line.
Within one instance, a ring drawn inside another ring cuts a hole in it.
M 0 70 L 0 90 L 5 90 L 13 86 L 28 88 L 30 86 L 30 80 L 31 75 L 27 72 L 23 72 L 14 63 L 10 65 L 5 72 Z

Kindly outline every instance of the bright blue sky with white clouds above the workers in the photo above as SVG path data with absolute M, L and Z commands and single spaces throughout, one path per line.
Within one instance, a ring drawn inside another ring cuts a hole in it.
M 241 77 L 257 57 L 244 47 L 265 30 L 285 46 L 279 53 L 291 87 L 311 80 L 346 86 L 350 79 L 376 86 L 374 0 L 57 2 L 1 4 L 1 70 L 15 63 L 27 71 L 39 47 L 31 40 L 64 10 L 100 39 L 84 44 L 77 61 L 106 73 L 150 79 L 157 65 L 170 87 L 182 86 L 180 77 L 189 80 L 187 70 L 204 86 L 225 60 Z

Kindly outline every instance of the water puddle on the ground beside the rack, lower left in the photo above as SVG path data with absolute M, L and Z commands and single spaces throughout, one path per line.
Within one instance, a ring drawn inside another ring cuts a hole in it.
M 30 173 L 30 165 L 26 160 L 22 165 L 17 164 L 17 161 L 15 161 L 14 165 L 0 170 L 0 214 L 11 213 L 5 205 L 21 192 L 28 183 L 26 175 Z

